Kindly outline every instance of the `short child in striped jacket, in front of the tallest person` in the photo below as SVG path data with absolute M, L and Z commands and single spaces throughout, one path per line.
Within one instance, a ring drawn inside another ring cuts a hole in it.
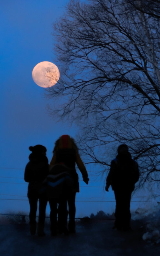
M 63 163 L 55 164 L 49 171 L 49 175 L 44 181 L 46 195 L 50 205 L 50 230 L 51 236 L 57 232 L 68 234 L 67 228 L 67 199 L 74 185 L 74 181 L 69 174 L 70 169 Z M 58 206 L 58 209 L 57 209 Z M 58 213 L 58 225 L 57 225 Z

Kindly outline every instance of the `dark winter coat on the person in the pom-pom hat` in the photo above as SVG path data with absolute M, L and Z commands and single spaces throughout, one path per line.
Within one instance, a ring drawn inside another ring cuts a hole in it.
M 43 181 L 49 173 L 48 159 L 45 154 L 30 154 L 25 167 L 25 181 L 28 184 L 28 197 L 40 194 Z

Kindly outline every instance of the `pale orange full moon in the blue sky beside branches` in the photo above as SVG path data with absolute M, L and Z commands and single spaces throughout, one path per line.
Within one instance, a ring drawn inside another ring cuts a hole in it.
M 51 87 L 58 82 L 60 77 L 59 69 L 49 61 L 38 63 L 32 71 L 33 81 L 40 87 Z

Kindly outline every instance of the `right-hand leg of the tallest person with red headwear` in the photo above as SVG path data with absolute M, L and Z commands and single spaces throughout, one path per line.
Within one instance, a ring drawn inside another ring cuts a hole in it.
M 76 198 L 76 192 L 69 193 L 67 197 L 68 201 L 68 208 L 69 208 L 69 232 L 75 233 L 75 214 L 76 214 L 76 206 L 75 206 L 75 198 Z

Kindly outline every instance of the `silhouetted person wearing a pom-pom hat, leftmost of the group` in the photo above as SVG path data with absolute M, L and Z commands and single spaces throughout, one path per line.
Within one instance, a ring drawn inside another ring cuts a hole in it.
M 42 193 L 43 181 L 48 175 L 49 165 L 46 157 L 46 147 L 36 145 L 29 147 L 32 153 L 29 155 L 29 162 L 25 167 L 25 181 L 28 184 L 28 199 L 30 204 L 30 233 L 34 235 L 36 232 L 36 211 L 37 202 L 39 199 L 39 220 L 38 220 L 38 235 L 44 236 L 44 222 L 46 217 L 47 198 Z

